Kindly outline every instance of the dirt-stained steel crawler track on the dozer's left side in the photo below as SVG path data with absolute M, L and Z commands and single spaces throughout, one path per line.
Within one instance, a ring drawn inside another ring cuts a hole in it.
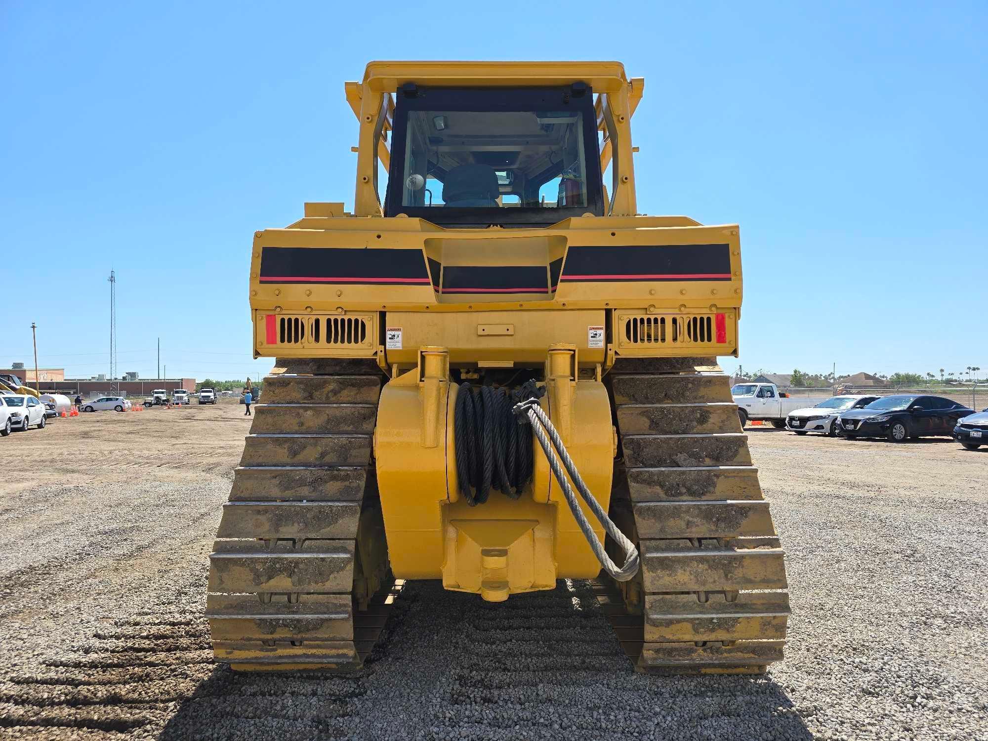
M 206 617 L 236 670 L 361 668 L 402 583 L 387 568 L 373 361 L 279 361 L 209 556 Z

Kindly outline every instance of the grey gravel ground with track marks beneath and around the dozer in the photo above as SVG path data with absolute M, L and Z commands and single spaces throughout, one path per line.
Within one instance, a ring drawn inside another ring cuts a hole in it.
M 0 440 L 0 737 L 988 739 L 988 451 L 749 429 L 792 602 L 764 677 L 635 674 L 582 582 L 502 605 L 411 584 L 364 671 L 282 677 L 214 665 L 201 617 L 248 422 Z

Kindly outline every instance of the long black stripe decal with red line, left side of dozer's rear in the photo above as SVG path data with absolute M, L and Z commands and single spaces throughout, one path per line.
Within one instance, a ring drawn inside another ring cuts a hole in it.
M 428 286 L 421 250 L 348 247 L 264 247 L 261 283 Z

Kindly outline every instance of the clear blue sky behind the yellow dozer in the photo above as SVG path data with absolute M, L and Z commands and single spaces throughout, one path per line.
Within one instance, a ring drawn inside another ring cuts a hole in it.
M 42 366 L 107 371 L 113 267 L 120 371 L 153 375 L 157 337 L 172 376 L 270 368 L 251 235 L 352 204 L 345 80 L 599 58 L 645 78 L 639 209 L 741 224 L 745 367 L 988 368 L 988 5 L 803 5 L 3 0 L 0 366 L 37 321 Z

